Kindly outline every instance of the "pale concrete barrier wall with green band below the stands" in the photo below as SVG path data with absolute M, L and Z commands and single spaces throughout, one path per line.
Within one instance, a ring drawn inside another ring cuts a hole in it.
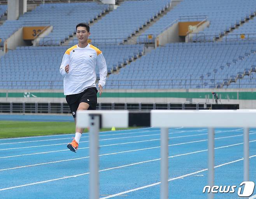
M 255 89 L 103 90 L 99 103 L 212 103 L 239 104 L 240 109 L 256 109 Z M 0 102 L 66 102 L 62 90 L 0 90 Z

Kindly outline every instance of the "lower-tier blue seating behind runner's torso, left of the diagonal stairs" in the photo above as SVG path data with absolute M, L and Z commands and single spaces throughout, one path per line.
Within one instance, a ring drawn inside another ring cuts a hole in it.
M 143 53 L 143 45 L 97 46 L 106 59 L 108 72 Z M 0 89 L 63 89 L 59 72 L 67 47 L 18 47 L 0 58 Z M 118 54 L 118 58 L 116 58 Z M 99 78 L 98 68 L 96 75 Z

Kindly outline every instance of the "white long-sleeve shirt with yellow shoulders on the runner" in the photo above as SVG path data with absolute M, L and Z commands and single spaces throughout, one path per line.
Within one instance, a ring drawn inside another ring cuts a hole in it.
M 67 64 L 68 73 L 65 72 Z M 102 52 L 91 44 L 85 48 L 78 45 L 68 48 L 60 66 L 60 73 L 64 77 L 64 95 L 77 94 L 89 87 L 96 87 L 96 66 L 100 71 L 99 84 L 103 87 L 107 77 L 107 65 Z

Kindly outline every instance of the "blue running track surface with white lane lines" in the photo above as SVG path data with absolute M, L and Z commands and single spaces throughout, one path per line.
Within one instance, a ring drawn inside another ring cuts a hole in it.
M 84 133 L 77 153 L 72 135 L 0 139 L 0 199 L 88 199 L 89 142 Z M 100 198 L 160 198 L 160 129 L 100 133 Z M 206 199 L 207 129 L 169 129 L 169 198 Z M 256 129 L 250 129 L 250 180 L 256 183 Z M 243 182 L 243 130 L 216 129 L 215 185 L 236 192 Z M 256 198 L 256 190 L 250 199 Z

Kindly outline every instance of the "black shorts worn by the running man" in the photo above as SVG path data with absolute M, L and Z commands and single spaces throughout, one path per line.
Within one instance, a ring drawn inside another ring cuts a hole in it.
M 96 87 L 90 87 L 84 90 L 84 92 L 66 96 L 68 106 L 70 107 L 70 111 L 74 118 L 81 102 L 89 104 L 88 110 L 96 110 L 97 93 L 98 90 Z

